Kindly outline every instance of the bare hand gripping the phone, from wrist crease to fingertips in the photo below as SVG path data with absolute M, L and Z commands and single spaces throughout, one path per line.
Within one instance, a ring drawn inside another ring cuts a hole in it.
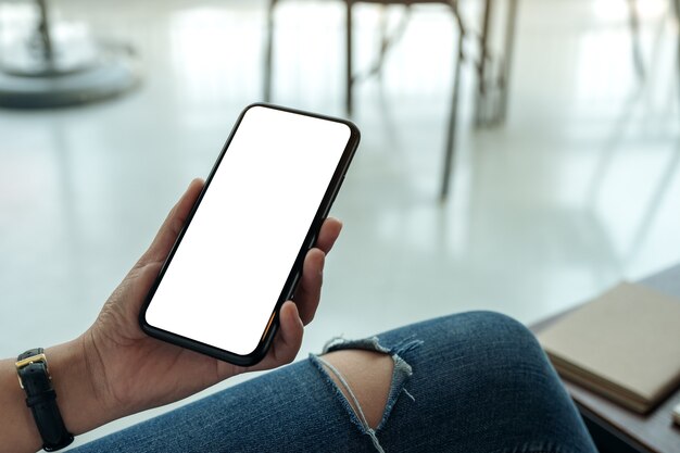
M 196 179 L 171 211 L 149 250 L 106 301 L 99 317 L 80 338 L 88 351 L 88 369 L 102 411 L 118 418 L 171 403 L 247 370 L 268 369 L 292 362 L 302 343 L 303 326 L 318 306 L 323 268 L 340 234 L 340 222 L 322 226 L 316 248 L 306 254 L 294 300 L 280 311 L 280 328 L 265 358 L 244 368 L 182 349 L 143 334 L 138 316 L 193 206 L 203 181 Z M 276 228 L 276 225 L 272 225 Z

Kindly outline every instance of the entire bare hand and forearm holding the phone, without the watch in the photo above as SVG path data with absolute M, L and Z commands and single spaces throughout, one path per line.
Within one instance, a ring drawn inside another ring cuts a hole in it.
M 56 403 L 72 433 L 180 400 L 229 376 L 274 368 L 295 357 L 303 326 L 312 320 L 318 306 L 326 253 L 340 234 L 341 224 L 336 219 L 324 223 L 316 248 L 307 252 L 295 302 L 282 305 L 279 331 L 256 366 L 230 365 L 141 331 L 141 305 L 202 188 L 203 181 L 191 183 L 95 324 L 77 339 L 46 350 Z M 14 360 L 0 361 L 0 453 L 35 452 L 40 448 L 40 435 L 25 399 L 16 381 Z

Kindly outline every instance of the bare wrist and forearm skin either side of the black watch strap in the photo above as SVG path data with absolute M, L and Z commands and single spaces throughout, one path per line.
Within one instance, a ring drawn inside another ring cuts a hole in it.
M 56 404 L 64 425 L 76 436 L 112 419 L 95 392 L 85 353 L 79 339 L 46 350 Z M 14 360 L 0 361 L 0 452 L 35 452 L 42 446 L 25 400 Z

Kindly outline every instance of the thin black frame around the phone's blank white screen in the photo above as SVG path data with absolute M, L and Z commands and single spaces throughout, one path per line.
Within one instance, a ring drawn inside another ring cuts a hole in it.
M 292 263 L 286 284 L 284 285 L 284 288 L 281 289 L 279 298 L 272 312 L 272 316 L 269 317 L 267 326 L 265 326 L 264 328 L 260 342 L 257 343 L 257 347 L 253 350 L 253 352 L 247 355 L 241 355 L 241 354 L 236 354 L 230 351 L 223 350 L 212 344 L 203 343 L 201 341 L 197 341 L 194 339 L 184 337 L 175 332 L 171 332 L 168 330 L 164 330 L 159 327 L 152 326 L 147 322 L 146 314 L 147 314 L 149 304 L 151 303 L 153 295 L 155 294 L 155 291 L 159 288 L 159 285 L 161 284 L 161 280 L 163 279 L 163 276 L 165 275 L 165 272 L 175 255 L 176 250 L 181 244 L 181 240 L 185 236 L 185 232 L 191 225 L 193 215 L 196 214 L 199 205 L 201 204 L 201 201 L 203 200 L 203 196 L 210 189 L 210 185 L 213 179 L 213 176 L 216 174 L 217 168 L 222 164 L 223 158 L 228 151 L 229 144 L 231 143 L 231 140 L 234 136 L 236 135 L 236 131 L 238 130 L 241 124 L 241 121 L 245 116 L 245 113 L 254 106 L 263 106 L 266 109 L 274 109 L 274 110 L 279 110 L 279 111 L 293 113 L 298 115 L 312 116 L 312 117 L 319 118 L 319 119 L 341 123 L 349 127 L 350 138 L 348 140 L 348 143 L 344 150 L 342 151 L 342 155 L 336 167 L 336 171 L 333 172 L 333 175 L 328 183 L 328 187 L 326 189 L 326 192 L 324 193 L 324 198 L 322 199 L 320 205 L 318 206 L 316 214 L 314 215 L 314 219 L 312 221 L 312 224 L 310 225 L 310 228 L 304 238 L 304 241 L 300 246 L 300 251 L 298 252 L 298 256 Z M 358 128 L 356 127 L 356 125 L 354 125 L 352 122 L 348 119 L 326 116 L 326 115 L 322 115 L 317 113 L 305 112 L 302 110 L 285 108 L 281 105 L 275 105 L 275 104 L 269 104 L 265 102 L 252 103 L 248 105 L 245 109 L 243 109 L 238 119 L 236 121 L 234 128 L 231 129 L 231 133 L 229 134 L 229 137 L 227 138 L 225 144 L 223 146 L 222 151 L 219 152 L 219 155 L 217 156 L 217 160 L 215 161 L 215 164 L 213 165 L 213 168 L 211 169 L 210 175 L 207 176 L 207 179 L 205 180 L 203 190 L 201 191 L 196 203 L 191 207 L 191 212 L 189 213 L 187 221 L 181 228 L 181 231 L 179 232 L 177 239 L 175 240 L 175 243 L 173 244 L 171 252 L 165 259 L 163 266 L 161 267 L 161 270 L 159 272 L 159 275 L 156 276 L 153 285 L 151 286 L 151 289 L 149 290 L 149 293 L 147 294 L 144 299 L 144 303 L 141 307 L 141 311 L 139 312 L 139 325 L 142 331 L 160 340 L 167 341 L 169 343 L 173 343 L 182 348 L 187 348 L 192 351 L 197 351 L 197 352 L 210 355 L 212 357 L 232 363 L 235 365 L 252 366 L 256 364 L 257 362 L 262 361 L 262 358 L 264 358 L 264 356 L 266 355 L 269 347 L 272 345 L 276 331 L 278 330 L 279 310 L 281 305 L 284 304 L 284 302 L 292 299 L 292 297 L 295 293 L 298 281 L 302 273 L 302 264 L 304 263 L 304 257 L 306 256 L 307 251 L 312 249 L 316 243 L 316 238 L 318 236 L 320 227 L 324 221 L 326 219 L 326 217 L 328 216 L 330 207 L 332 206 L 332 203 L 336 200 L 338 191 L 340 190 L 340 187 L 342 186 L 342 181 L 344 180 L 344 175 L 350 166 L 350 163 L 352 162 L 352 159 L 354 158 L 354 154 L 358 147 L 360 139 L 361 139 L 361 134 L 360 134 Z

